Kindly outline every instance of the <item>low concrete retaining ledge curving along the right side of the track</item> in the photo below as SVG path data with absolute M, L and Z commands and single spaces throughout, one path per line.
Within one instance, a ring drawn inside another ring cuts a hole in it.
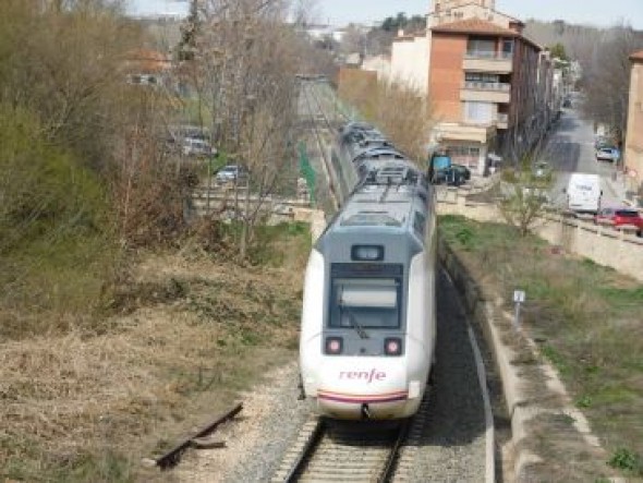
M 586 418 L 574 406 L 557 371 L 542 357 L 536 342 L 517 324 L 514 314 L 507 311 L 502 294 L 494 292 L 488 285 L 483 287 L 444 239 L 438 256 L 471 319 L 484 334 L 501 379 L 511 425 L 511 438 L 500 448 L 504 481 L 546 479 L 548 475 L 542 472 L 544 468 L 548 472 L 565 464 L 563 460 L 551 459 L 565 459 L 572 452 L 593 461 L 607 461 L 607 452 L 592 433 Z M 551 432 L 547 424 L 551 421 L 565 424 L 558 424 L 556 432 Z M 557 437 L 566 440 L 567 452 L 553 455 L 550 448 L 541 444 Z M 569 448 L 570 445 L 574 447 Z

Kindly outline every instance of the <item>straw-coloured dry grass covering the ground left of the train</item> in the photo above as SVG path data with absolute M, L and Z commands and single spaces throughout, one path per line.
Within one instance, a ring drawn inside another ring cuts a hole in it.
M 195 252 L 148 255 L 131 282 L 144 287 L 142 298 L 131 290 L 129 313 L 107 321 L 105 334 L 1 343 L 0 478 L 139 479 L 139 457 L 213 419 L 292 358 L 301 273 Z

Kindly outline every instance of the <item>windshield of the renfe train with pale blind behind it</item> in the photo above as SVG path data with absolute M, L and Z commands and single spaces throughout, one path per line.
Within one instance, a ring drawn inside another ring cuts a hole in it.
M 329 326 L 399 328 L 400 285 L 397 278 L 335 278 Z

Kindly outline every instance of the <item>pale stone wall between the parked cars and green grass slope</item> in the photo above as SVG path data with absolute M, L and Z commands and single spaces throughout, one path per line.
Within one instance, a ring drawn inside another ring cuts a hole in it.
M 462 215 L 477 221 L 502 220 L 496 206 L 465 204 L 463 197 L 447 192 L 438 197 L 440 215 Z M 643 281 L 643 238 L 592 222 L 548 216 L 535 230 L 536 234 L 566 252 L 573 253 Z

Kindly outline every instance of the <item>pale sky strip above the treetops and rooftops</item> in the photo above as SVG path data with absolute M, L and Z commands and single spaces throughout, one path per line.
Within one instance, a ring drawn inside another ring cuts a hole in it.
M 126 0 L 136 15 L 185 13 L 186 0 Z M 343 26 L 371 24 L 404 12 L 428 13 L 430 0 L 314 0 L 316 20 Z M 570 24 L 608 27 L 624 22 L 643 31 L 643 0 L 496 0 L 496 10 L 520 20 L 563 20 Z

